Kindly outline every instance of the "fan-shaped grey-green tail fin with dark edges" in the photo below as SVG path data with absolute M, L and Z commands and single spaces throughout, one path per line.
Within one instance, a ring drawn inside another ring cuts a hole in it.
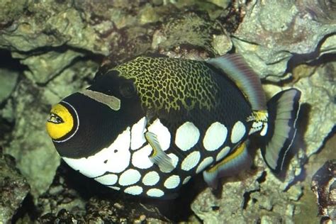
M 286 89 L 267 103 L 269 112 L 267 134 L 262 137 L 262 156 L 269 168 L 278 173 L 296 135 L 296 120 L 300 110 L 301 91 Z

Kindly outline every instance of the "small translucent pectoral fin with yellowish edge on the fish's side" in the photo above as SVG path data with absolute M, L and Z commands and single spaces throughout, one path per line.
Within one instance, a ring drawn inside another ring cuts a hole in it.
M 155 133 L 147 132 L 145 133 L 145 138 L 153 149 L 152 154 L 150 155 L 150 161 L 157 164 L 162 172 L 171 172 L 174 169 L 172 159 L 162 150 L 159 141 L 157 140 L 157 135 L 155 135 Z

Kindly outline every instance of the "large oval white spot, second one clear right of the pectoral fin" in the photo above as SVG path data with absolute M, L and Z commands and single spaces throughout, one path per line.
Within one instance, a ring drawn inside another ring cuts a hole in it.
M 208 151 L 217 150 L 226 140 L 228 129 L 225 125 L 215 122 L 206 130 L 206 136 L 203 139 L 203 145 Z

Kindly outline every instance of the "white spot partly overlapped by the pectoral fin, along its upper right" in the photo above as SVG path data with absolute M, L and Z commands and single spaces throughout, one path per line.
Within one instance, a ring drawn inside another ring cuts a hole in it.
M 149 127 L 148 130 L 151 133 L 155 133 L 157 135 L 157 140 L 159 141 L 159 145 L 161 146 L 162 150 L 168 150 L 170 146 L 170 133 L 167 127 L 162 125 L 159 119 L 156 119 Z

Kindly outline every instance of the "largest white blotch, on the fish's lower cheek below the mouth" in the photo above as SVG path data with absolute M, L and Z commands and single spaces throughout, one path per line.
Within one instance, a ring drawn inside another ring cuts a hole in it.
M 126 128 L 108 147 L 87 158 L 62 157 L 72 169 L 86 177 L 98 177 L 106 172 L 123 172 L 130 164 L 130 127 Z

